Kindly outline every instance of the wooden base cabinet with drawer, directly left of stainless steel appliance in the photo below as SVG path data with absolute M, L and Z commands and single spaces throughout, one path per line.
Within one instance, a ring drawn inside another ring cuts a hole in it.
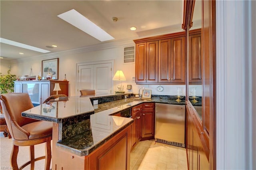
M 142 109 L 142 140 L 154 139 L 155 103 L 144 103 Z

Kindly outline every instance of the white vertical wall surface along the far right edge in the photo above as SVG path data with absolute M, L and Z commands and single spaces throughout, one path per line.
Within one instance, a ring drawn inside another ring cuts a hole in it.
M 216 1 L 216 168 L 256 169 L 256 1 Z

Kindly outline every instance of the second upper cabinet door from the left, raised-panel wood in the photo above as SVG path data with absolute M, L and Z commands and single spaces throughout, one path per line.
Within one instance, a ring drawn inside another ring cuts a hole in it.
M 158 41 L 147 42 L 146 82 L 158 82 Z

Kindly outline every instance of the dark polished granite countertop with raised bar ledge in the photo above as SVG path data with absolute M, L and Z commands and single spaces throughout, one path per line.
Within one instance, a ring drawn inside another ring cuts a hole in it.
M 175 96 L 152 95 L 152 99 L 130 97 L 92 106 L 89 96 L 76 96 L 36 106 L 24 111 L 22 116 L 62 123 L 61 140 L 56 146 L 85 156 L 133 122 L 131 118 L 111 116 L 114 113 L 145 102 L 185 105 L 185 101 L 177 102 L 176 99 Z

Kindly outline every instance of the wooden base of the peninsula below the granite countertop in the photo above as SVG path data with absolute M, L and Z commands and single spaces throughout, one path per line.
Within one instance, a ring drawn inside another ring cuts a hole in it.
M 129 170 L 130 135 L 131 126 L 129 125 L 87 156 L 78 156 L 54 147 L 54 158 L 57 159 L 53 161 L 52 170 Z

